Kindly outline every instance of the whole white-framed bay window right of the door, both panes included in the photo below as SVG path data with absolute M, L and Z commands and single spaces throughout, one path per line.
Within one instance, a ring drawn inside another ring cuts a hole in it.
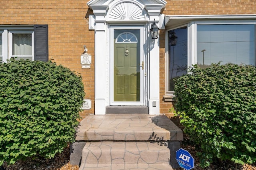
M 169 29 L 166 39 L 166 94 L 174 93 L 173 79 L 187 74 L 193 64 L 256 65 L 256 21 L 191 21 L 187 27 Z

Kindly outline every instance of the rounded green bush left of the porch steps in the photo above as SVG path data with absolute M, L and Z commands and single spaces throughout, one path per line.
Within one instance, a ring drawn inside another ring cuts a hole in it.
M 0 166 L 52 158 L 74 142 L 84 98 L 82 77 L 51 61 L 0 64 Z

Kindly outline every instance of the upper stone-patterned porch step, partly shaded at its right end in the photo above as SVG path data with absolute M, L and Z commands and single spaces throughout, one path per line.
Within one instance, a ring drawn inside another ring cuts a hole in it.
M 76 141 L 182 141 L 182 131 L 165 115 L 88 115 L 80 122 Z

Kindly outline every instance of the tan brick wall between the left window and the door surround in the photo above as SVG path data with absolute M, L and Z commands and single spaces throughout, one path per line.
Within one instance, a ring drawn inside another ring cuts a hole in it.
M 85 98 L 92 100 L 94 113 L 94 31 L 88 30 L 87 1 L 82 0 L 1 0 L 1 25 L 48 24 L 49 59 L 82 74 Z M 83 68 L 83 45 L 92 55 L 91 68 Z

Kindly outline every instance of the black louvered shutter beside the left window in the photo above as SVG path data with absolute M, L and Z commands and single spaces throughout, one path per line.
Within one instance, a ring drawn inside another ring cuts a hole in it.
M 34 60 L 48 61 L 48 25 L 34 25 Z

